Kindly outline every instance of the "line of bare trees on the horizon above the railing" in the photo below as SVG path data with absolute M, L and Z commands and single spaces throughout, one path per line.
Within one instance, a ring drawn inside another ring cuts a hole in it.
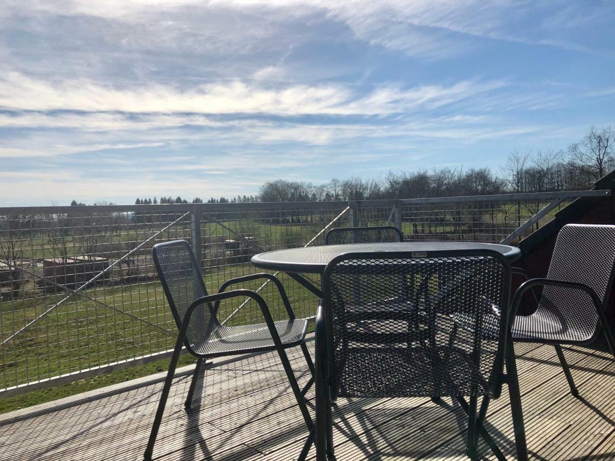
M 590 189 L 615 168 L 615 128 L 592 127 L 566 151 L 518 151 L 509 154 L 497 171 L 491 168 L 434 168 L 389 171 L 381 178 L 331 179 L 326 184 L 277 179 L 261 186 L 258 195 L 210 197 L 206 202 L 180 196 L 137 198 L 135 204 L 323 202 L 330 200 L 412 199 L 456 197 L 502 192 L 551 192 Z M 71 205 L 82 205 L 73 200 Z

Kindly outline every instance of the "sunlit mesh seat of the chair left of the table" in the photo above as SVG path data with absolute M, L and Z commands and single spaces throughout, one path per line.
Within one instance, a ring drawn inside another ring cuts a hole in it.
M 303 318 L 280 320 L 274 322 L 274 325 L 285 348 L 301 344 L 308 330 L 308 320 Z M 219 326 L 209 341 L 192 345 L 195 353 L 212 357 L 274 349 L 276 345 L 266 323 Z

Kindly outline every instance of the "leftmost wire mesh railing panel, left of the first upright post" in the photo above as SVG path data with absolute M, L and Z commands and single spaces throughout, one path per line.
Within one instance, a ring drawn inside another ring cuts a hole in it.
M 0 388 L 172 347 L 151 248 L 189 237 L 186 211 L 1 216 Z

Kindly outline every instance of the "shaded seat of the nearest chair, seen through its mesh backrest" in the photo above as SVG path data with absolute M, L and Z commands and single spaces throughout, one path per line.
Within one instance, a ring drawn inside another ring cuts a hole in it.
M 357 347 L 347 352 L 339 374 L 341 397 L 470 395 L 472 384 L 478 395 L 491 395 L 480 370 L 458 347 Z

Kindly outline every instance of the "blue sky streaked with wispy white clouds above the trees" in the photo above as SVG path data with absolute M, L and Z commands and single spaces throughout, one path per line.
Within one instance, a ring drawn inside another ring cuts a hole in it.
M 615 2 L 0 0 L 0 206 L 498 170 L 615 125 Z

